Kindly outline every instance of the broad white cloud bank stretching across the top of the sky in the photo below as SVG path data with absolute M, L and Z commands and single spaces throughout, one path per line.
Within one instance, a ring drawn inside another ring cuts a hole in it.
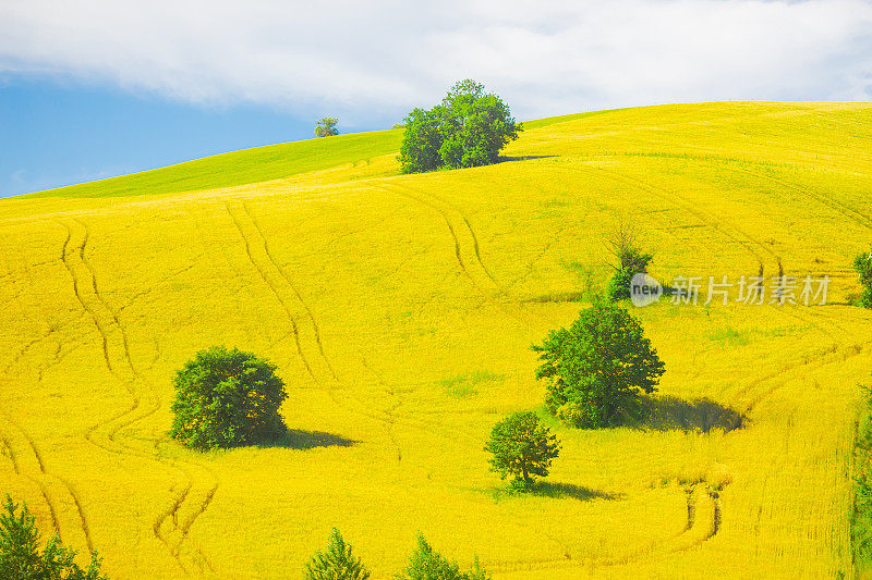
M 522 119 L 676 101 L 869 100 L 872 3 L 0 0 L 0 73 L 268 103 L 347 125 L 399 119 L 464 77 Z

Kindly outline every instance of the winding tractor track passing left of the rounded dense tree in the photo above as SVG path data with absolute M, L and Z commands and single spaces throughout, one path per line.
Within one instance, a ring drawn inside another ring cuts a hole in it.
M 86 257 L 87 243 L 90 236 L 87 224 L 80 220 L 74 220 L 74 222 L 82 231 L 81 243 L 77 245 L 77 251 L 70 251 L 73 231 L 70 225 L 61 224 L 68 232 L 61 259 L 72 280 L 73 293 L 78 304 L 89 314 L 100 335 L 107 369 L 121 382 L 132 399 L 129 408 L 93 425 L 86 432 L 85 437 L 93 445 L 106 452 L 155 461 L 164 466 L 167 472 L 181 476 L 186 481 L 182 491 L 170 502 L 169 507 L 158 514 L 152 526 L 152 531 L 155 539 L 165 545 L 182 571 L 189 575 L 190 569 L 183 564 L 181 557 L 183 543 L 187 539 L 194 521 L 211 503 L 218 490 L 219 480 L 211 469 L 202 464 L 161 457 L 157 448 L 157 440 L 155 440 L 156 449 L 154 453 L 118 441 L 118 435 L 122 430 L 130 429 L 134 424 L 152 417 L 160 409 L 161 405 L 154 387 L 145 380 L 133 362 L 126 328 L 121 322 L 118 312 L 112 309 L 100 293 L 96 271 Z M 89 279 L 89 283 L 83 283 L 83 275 L 85 279 Z M 116 355 L 114 357 L 113 354 Z M 113 365 L 113 358 L 121 359 L 121 363 Z M 196 474 L 194 473 L 195 471 L 197 472 Z M 194 492 L 202 498 L 194 497 Z M 178 515 L 187 505 L 194 507 L 191 508 L 192 511 L 187 520 L 180 526 Z M 198 546 L 194 550 L 202 552 Z M 194 564 L 199 566 L 199 562 L 196 558 L 194 558 Z

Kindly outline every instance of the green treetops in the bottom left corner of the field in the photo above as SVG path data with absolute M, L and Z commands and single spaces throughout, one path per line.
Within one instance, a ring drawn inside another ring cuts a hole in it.
M 84 569 L 73 559 L 75 551 L 64 547 L 58 534 L 39 551 L 39 531 L 26 505 L 7 495 L 0 513 L 0 578 L 3 580 L 108 580 L 100 575 L 100 558 L 90 553 Z

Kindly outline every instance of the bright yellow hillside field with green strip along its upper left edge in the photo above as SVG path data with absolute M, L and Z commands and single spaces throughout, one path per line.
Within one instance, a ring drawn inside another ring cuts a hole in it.
M 531 122 L 486 168 L 399 175 L 388 131 L 1 199 L 0 493 L 112 579 L 296 579 L 332 527 L 374 579 L 419 530 L 496 580 L 851 578 L 871 139 L 869 103 L 674 104 Z M 562 427 L 530 345 L 620 219 L 662 281 L 780 262 L 828 304 L 628 305 L 668 420 Z M 216 344 L 278 366 L 288 441 L 168 437 Z M 482 447 L 526 409 L 564 448 L 511 495 Z

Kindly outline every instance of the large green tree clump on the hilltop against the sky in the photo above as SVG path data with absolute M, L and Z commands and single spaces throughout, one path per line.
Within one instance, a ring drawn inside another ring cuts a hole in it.
M 471 79 L 455 84 L 433 109 L 414 109 L 403 124 L 398 158 L 403 173 L 496 163 L 499 151 L 522 131 L 509 107 Z

